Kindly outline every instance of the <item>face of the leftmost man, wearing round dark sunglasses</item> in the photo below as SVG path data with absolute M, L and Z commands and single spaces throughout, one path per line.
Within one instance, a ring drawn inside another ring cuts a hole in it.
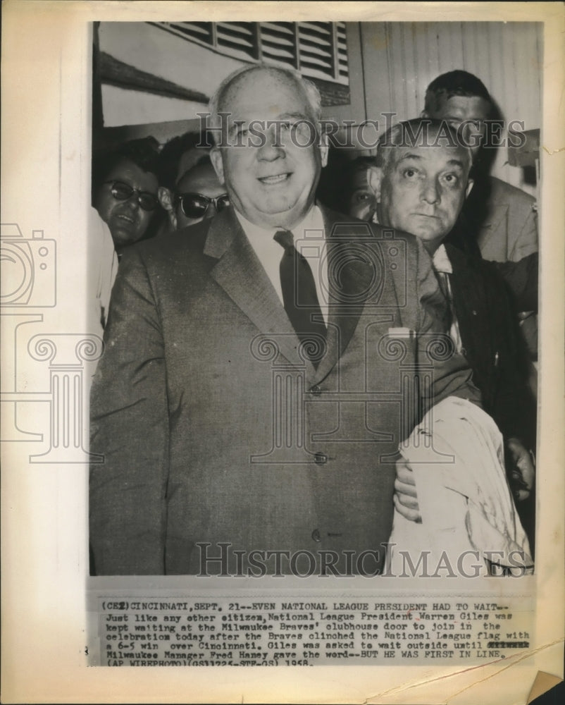
M 143 169 L 130 159 L 121 159 L 108 173 L 105 182 L 121 181 L 139 191 L 157 197 L 157 178 L 154 173 Z M 108 223 L 114 246 L 119 252 L 126 245 L 137 243 L 146 233 L 154 211 L 146 211 L 139 206 L 137 193 L 125 201 L 117 200 L 111 193 L 111 183 L 103 183 L 98 191 L 94 207 L 103 221 Z

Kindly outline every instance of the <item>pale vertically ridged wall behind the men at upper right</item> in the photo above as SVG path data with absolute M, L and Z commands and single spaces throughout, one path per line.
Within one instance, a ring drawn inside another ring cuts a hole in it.
M 406 22 L 360 25 L 366 113 L 375 118 L 395 111 L 399 120 L 418 116 L 426 87 L 456 68 L 483 81 L 506 121 L 541 127 L 542 40 L 539 23 Z M 514 185 L 520 168 L 507 166 L 498 149 L 493 172 Z

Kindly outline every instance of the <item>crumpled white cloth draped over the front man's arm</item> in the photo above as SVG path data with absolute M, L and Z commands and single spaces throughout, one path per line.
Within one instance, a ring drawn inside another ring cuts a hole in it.
M 443 559 L 457 573 L 466 551 L 478 552 L 485 563 L 533 565 L 504 470 L 502 435 L 490 416 L 465 399 L 448 397 L 426 414 L 399 450 L 414 470 L 422 522 L 406 520 L 395 510 L 393 575 L 408 565 L 403 551 L 412 565 L 427 551 L 430 572 Z

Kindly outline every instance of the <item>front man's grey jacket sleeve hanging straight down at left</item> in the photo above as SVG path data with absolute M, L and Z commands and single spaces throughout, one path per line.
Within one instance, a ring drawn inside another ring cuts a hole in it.
M 164 572 L 168 403 L 159 311 L 137 247 L 123 255 L 91 393 L 90 546 L 97 575 Z

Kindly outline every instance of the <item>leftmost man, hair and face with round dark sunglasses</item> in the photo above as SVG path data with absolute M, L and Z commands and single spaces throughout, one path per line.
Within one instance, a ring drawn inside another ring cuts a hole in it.
M 148 234 L 159 209 L 157 146 L 147 137 L 94 155 L 93 205 L 108 223 L 118 255 Z

